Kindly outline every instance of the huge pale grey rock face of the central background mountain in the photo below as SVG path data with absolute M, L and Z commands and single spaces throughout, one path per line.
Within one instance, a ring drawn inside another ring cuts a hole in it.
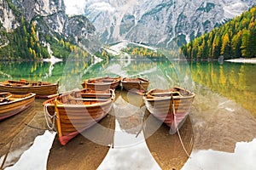
M 172 46 L 189 42 L 252 7 L 254 0 L 88 0 L 84 14 L 102 42 Z

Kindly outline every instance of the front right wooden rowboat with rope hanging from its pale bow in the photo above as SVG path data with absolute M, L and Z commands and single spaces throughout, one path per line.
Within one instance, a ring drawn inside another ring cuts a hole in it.
M 189 115 L 195 94 L 183 88 L 152 89 L 143 96 L 148 111 L 176 133 Z

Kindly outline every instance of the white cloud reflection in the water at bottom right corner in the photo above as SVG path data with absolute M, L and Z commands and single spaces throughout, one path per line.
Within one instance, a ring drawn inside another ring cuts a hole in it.
M 256 139 L 252 142 L 238 142 L 234 153 L 216 150 L 193 151 L 182 170 L 190 169 L 247 169 L 256 168 Z

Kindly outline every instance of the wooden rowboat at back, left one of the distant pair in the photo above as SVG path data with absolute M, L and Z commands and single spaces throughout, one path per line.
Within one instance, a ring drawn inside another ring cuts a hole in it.
M 121 77 L 99 77 L 99 78 L 91 78 L 89 80 L 84 80 L 82 83 L 83 88 L 90 88 L 96 90 L 106 90 L 108 88 L 118 88 L 121 82 Z

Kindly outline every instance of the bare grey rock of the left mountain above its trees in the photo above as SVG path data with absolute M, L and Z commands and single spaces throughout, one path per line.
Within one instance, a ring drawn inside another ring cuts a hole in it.
M 38 26 L 38 38 L 42 42 L 46 36 L 67 39 L 77 44 L 81 44 L 84 39 L 94 41 L 96 38 L 95 27 L 86 17 L 68 17 L 65 14 L 63 0 L 0 0 L 2 31 L 11 32 L 20 26 L 21 16 L 28 23 L 36 21 L 34 23 Z M 7 42 L 8 40 L 1 41 L 0 46 Z

